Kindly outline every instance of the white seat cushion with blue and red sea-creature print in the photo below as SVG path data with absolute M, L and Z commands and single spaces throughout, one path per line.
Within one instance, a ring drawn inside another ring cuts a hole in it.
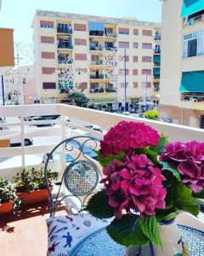
M 111 220 L 90 214 L 65 215 L 47 219 L 48 256 L 69 255 L 82 236 L 105 227 Z

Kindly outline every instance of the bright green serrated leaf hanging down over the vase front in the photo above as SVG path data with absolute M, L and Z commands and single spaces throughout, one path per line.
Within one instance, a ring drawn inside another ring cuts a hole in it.
M 145 215 L 139 219 L 139 225 L 144 235 L 156 245 L 161 246 L 161 236 L 156 215 Z

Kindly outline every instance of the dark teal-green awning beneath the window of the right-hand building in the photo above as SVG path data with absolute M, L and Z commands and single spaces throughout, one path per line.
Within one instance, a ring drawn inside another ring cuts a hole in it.
M 180 92 L 204 92 L 204 70 L 183 72 Z

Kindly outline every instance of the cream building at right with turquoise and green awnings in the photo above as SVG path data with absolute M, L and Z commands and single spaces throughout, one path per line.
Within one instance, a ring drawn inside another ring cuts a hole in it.
M 161 115 L 204 128 L 204 2 L 162 3 Z

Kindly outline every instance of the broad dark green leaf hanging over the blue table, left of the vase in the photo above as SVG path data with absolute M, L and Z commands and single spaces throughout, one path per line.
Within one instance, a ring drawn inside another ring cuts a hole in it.
M 137 215 L 124 214 L 122 218 L 115 218 L 106 227 L 106 230 L 114 241 L 126 247 L 144 246 L 149 242 L 139 226 L 139 216 Z

